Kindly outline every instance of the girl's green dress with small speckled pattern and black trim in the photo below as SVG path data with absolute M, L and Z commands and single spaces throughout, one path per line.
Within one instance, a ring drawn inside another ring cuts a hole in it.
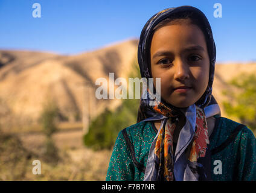
M 211 179 L 256 180 L 256 139 L 252 131 L 244 126 L 235 131 L 238 122 L 216 117 L 216 124 L 210 136 Z M 134 148 L 135 159 L 146 167 L 150 146 L 157 130 L 152 121 L 142 121 L 126 128 L 127 136 Z M 106 180 L 142 181 L 144 172 L 133 162 L 122 131 L 118 133 L 107 169 Z

